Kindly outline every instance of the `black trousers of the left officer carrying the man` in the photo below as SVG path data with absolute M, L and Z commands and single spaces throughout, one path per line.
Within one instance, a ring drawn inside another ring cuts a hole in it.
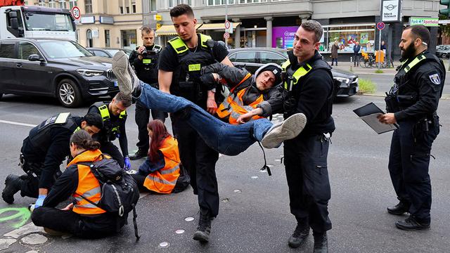
M 172 117 L 172 129 L 178 141 L 181 164 L 189 171 L 191 186 L 198 195 L 200 209 L 207 209 L 210 216 L 219 214 L 216 162 L 219 153 L 210 148 L 195 129 L 183 120 Z

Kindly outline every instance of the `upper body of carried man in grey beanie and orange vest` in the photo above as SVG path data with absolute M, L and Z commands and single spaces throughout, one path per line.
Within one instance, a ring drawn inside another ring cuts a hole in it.
M 217 109 L 217 117 L 230 124 L 269 117 L 283 112 L 281 67 L 274 63 L 262 65 L 250 74 L 247 70 L 214 63 L 203 69 L 200 80 L 210 89 L 217 82 L 225 84 L 230 94 Z

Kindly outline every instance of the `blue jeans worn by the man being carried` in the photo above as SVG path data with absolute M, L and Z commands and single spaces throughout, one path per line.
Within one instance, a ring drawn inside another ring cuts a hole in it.
M 261 141 L 272 126 L 269 119 L 257 119 L 245 124 L 233 125 L 222 122 L 186 98 L 164 93 L 150 85 L 143 85 L 139 101 L 151 110 L 178 112 L 191 108 L 186 124 L 198 132 L 210 146 L 224 155 L 238 155 L 255 141 Z

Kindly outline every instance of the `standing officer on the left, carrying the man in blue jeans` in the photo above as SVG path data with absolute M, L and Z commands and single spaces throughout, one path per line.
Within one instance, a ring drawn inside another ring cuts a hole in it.
M 179 37 L 169 40 L 159 61 L 158 80 L 161 91 L 184 97 L 213 114 L 217 110 L 214 92 L 200 82 L 200 70 L 205 65 L 221 62 L 233 66 L 228 51 L 217 41 L 195 33 L 197 20 L 192 8 L 179 4 L 170 10 Z M 172 115 L 173 116 L 173 115 Z M 172 117 L 174 134 L 179 142 L 181 163 L 191 176 L 193 192 L 198 195 L 200 219 L 193 239 L 210 239 L 211 219 L 219 213 L 219 193 L 215 164 L 219 153 L 210 148 L 195 129 Z

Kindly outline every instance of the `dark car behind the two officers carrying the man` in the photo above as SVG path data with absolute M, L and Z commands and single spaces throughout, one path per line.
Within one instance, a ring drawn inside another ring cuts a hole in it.
M 236 67 L 244 67 L 252 74 L 266 63 L 282 65 L 288 60 L 288 51 L 282 48 L 234 48 L 229 50 L 231 62 Z M 344 70 L 331 70 L 337 97 L 353 96 L 358 91 L 358 76 Z

